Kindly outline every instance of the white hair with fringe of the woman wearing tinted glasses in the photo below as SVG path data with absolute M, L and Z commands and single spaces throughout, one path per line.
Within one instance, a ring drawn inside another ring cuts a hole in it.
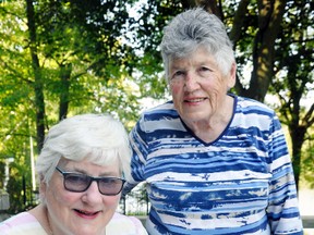
M 49 183 L 60 159 L 108 165 L 118 160 L 121 175 L 131 174 L 131 148 L 122 123 L 109 114 L 81 114 L 52 126 L 37 159 L 40 182 Z

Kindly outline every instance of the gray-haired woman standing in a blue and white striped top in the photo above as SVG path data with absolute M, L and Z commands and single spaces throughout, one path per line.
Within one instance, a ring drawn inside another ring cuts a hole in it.
M 230 92 L 237 65 L 225 26 L 201 8 L 160 45 L 172 100 L 131 132 L 132 181 L 146 182 L 149 234 L 302 234 L 295 183 L 275 112 Z

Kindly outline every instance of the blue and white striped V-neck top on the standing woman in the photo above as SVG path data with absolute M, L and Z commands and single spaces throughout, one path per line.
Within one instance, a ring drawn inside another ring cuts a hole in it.
M 126 191 L 147 182 L 149 234 L 303 234 L 285 136 L 265 104 L 234 96 L 232 120 L 208 144 L 169 101 L 144 112 L 130 138 Z

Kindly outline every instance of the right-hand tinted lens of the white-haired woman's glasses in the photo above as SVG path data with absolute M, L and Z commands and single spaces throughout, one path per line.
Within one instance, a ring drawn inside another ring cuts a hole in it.
M 122 190 L 124 181 L 114 177 L 104 177 L 99 180 L 99 191 L 104 195 L 118 195 Z

